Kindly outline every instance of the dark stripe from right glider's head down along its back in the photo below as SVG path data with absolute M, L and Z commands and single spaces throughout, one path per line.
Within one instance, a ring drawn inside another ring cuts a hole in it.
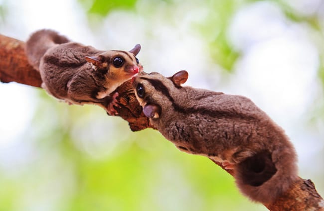
M 231 111 L 213 111 L 210 108 L 184 108 L 181 105 L 177 104 L 173 97 L 170 95 L 169 89 L 162 83 L 162 81 L 157 79 L 149 79 L 146 77 L 140 77 L 143 80 L 148 81 L 158 92 L 161 92 L 164 96 L 167 97 L 168 100 L 172 103 L 172 106 L 174 107 L 174 110 L 183 113 L 183 114 L 192 114 L 192 113 L 198 113 L 201 115 L 208 115 L 210 117 L 214 118 L 238 118 L 238 119 L 254 119 L 252 116 L 246 116 L 241 113 L 237 112 L 231 112 Z

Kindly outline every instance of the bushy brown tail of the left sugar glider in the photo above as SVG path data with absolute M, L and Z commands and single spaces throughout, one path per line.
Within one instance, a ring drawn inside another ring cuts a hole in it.
M 42 29 L 34 32 L 26 42 L 26 55 L 28 62 L 39 71 L 39 63 L 47 49 L 55 44 L 70 42 L 65 36 L 56 31 Z

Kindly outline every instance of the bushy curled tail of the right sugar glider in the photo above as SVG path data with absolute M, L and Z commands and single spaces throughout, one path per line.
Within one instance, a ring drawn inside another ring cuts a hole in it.
M 298 177 L 293 146 L 278 148 L 272 153 L 259 152 L 236 166 L 236 184 L 253 201 L 273 202 Z

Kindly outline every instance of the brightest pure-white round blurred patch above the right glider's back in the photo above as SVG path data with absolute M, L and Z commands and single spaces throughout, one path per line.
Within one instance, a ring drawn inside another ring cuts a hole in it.
M 264 108 L 291 121 L 305 112 L 314 97 L 310 90 L 318 66 L 316 48 L 306 39 L 284 35 L 251 47 L 237 71 L 241 83 L 264 102 Z

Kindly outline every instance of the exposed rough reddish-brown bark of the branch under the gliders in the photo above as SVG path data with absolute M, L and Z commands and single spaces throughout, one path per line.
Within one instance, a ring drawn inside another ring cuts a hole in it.
M 41 87 L 40 75 L 28 64 L 24 46 L 22 41 L 0 35 L 0 81 Z M 151 128 L 148 118 L 143 115 L 142 108 L 135 98 L 131 82 L 125 82 L 116 91 L 119 92 L 121 105 L 121 108 L 117 108 L 118 116 L 129 123 L 131 130 Z M 221 163 L 215 163 L 224 169 Z M 226 171 L 233 175 L 230 170 Z M 324 211 L 324 200 L 311 180 L 299 178 L 287 193 L 265 206 L 270 211 Z

